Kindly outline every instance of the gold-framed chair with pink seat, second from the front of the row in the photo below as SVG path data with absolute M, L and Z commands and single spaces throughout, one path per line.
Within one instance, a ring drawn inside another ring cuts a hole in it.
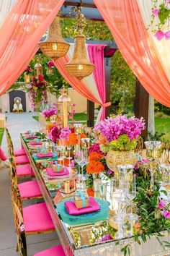
M 17 251 L 20 256 L 27 256 L 26 236 L 45 234 L 55 231 L 45 202 L 22 208 L 19 189 L 11 187 L 12 207 L 17 235 Z

